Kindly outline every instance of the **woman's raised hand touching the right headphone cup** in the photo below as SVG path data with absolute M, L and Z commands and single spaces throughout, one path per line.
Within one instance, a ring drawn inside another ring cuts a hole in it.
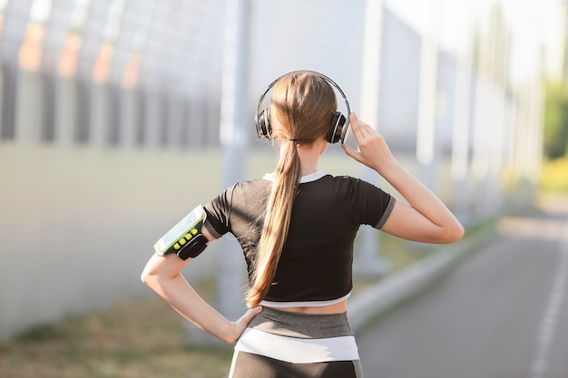
M 347 144 L 342 144 L 341 147 L 351 158 L 382 174 L 382 171 L 396 162 L 387 142 L 375 129 L 359 121 L 355 113 L 351 113 L 349 117 L 351 132 L 357 141 L 358 150 L 353 150 Z

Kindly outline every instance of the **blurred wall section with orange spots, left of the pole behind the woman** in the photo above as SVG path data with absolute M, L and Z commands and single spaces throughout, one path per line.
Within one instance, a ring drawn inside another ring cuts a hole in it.
M 208 123 L 218 123 L 221 1 L 18 0 L 1 6 L 2 139 L 217 141 L 214 129 L 196 128 L 190 138 L 184 126 L 210 117 Z M 39 114 L 26 114 L 34 106 Z

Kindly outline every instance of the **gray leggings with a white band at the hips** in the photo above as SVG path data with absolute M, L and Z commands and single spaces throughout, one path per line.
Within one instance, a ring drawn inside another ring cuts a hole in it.
M 248 331 L 259 337 L 241 337 L 235 346 L 229 378 L 363 377 L 357 345 L 354 339 L 350 342 L 353 333 L 345 313 L 306 315 L 264 307 Z M 265 343 L 263 335 L 269 336 L 269 343 Z M 338 344 L 334 342 L 339 338 L 348 340 L 342 344 L 347 345 L 341 346 L 342 350 L 337 350 Z M 290 345 L 302 341 L 317 345 L 316 351 L 325 350 L 325 358 L 318 353 L 310 355 L 309 348 L 298 354 L 290 350 Z M 345 348 L 349 349 L 347 353 Z M 345 355 L 350 355 L 350 359 L 341 358 Z

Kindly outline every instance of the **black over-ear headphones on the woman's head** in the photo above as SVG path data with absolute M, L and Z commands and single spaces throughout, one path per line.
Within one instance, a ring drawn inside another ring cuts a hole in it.
M 330 78 L 328 78 L 328 76 L 322 74 L 322 73 L 317 73 L 315 71 L 292 71 L 291 73 L 315 73 L 317 74 L 319 77 L 323 78 L 326 82 L 328 82 L 332 87 L 334 87 L 335 89 L 338 90 L 338 92 L 341 94 L 341 96 L 343 97 L 343 100 L 345 101 L 345 104 L 348 108 L 348 115 L 351 113 L 351 107 L 349 106 L 349 102 L 348 102 L 348 98 L 345 95 L 345 92 L 343 92 L 343 90 L 339 87 L 339 85 L 334 82 L 333 80 L 331 80 Z M 257 126 L 257 134 L 259 135 L 259 138 L 268 138 L 270 139 L 270 132 L 272 131 L 272 127 L 270 126 L 270 114 L 269 114 L 269 108 L 262 108 L 263 102 L 264 102 L 264 98 L 266 97 L 267 93 L 270 91 L 270 89 L 272 89 L 272 87 L 284 76 L 288 75 L 290 73 L 285 73 L 282 76 L 280 76 L 278 79 L 276 79 L 274 82 L 271 82 L 269 87 L 267 88 L 267 90 L 262 93 L 262 95 L 260 96 L 259 99 L 259 104 L 257 106 L 257 116 L 256 116 L 256 126 Z M 348 132 L 348 128 L 349 128 L 349 119 L 348 117 L 346 118 L 343 114 L 341 114 L 339 111 L 333 111 L 333 118 L 331 120 L 331 124 L 329 125 L 329 130 L 328 133 L 326 135 L 326 140 L 329 143 L 337 143 L 338 141 L 341 141 L 341 144 L 344 143 L 345 141 L 345 136 L 347 135 Z

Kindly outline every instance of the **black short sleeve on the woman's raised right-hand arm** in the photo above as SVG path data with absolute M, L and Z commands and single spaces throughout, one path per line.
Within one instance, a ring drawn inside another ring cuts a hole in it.
M 383 189 L 362 179 L 356 179 L 354 184 L 353 208 L 357 221 L 374 228 L 382 228 L 397 200 Z

